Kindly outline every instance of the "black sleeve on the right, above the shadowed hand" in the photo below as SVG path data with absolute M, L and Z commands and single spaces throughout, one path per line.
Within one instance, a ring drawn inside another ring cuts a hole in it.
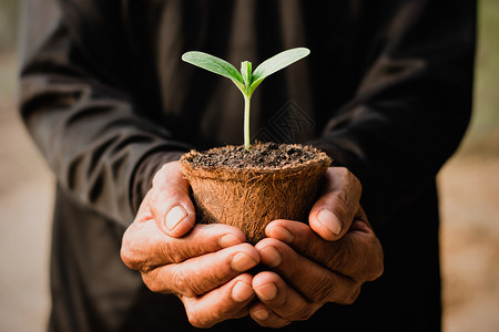
M 476 29 L 475 1 L 379 6 L 358 90 L 314 142 L 360 179 L 375 228 L 435 184 L 456 151 L 471 112 Z

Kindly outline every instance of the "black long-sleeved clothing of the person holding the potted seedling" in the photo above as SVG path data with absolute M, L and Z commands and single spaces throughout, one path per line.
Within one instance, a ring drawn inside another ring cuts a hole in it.
M 469 122 L 475 1 L 35 1 L 20 110 L 58 183 L 51 331 L 194 330 L 119 257 L 163 163 L 243 141 L 240 92 L 181 55 L 256 65 L 293 46 L 312 54 L 258 87 L 252 136 L 312 143 L 356 174 L 386 264 L 353 305 L 284 330 L 440 329 L 435 177 Z

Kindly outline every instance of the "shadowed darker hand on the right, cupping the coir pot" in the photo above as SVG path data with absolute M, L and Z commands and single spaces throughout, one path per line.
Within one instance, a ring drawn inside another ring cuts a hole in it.
M 345 168 L 329 168 L 325 194 L 309 226 L 275 220 L 256 243 L 273 271 L 253 278 L 259 301 L 251 315 L 261 325 L 306 320 L 327 302 L 353 303 L 366 281 L 383 273 L 383 249 L 359 205 L 360 185 Z

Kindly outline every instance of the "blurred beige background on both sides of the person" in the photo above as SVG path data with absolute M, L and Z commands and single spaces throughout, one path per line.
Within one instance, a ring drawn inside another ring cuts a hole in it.
M 53 176 L 17 113 L 18 0 L 0 0 L 0 332 L 44 331 Z M 439 175 L 444 331 L 499 331 L 499 0 L 479 1 L 475 113 Z

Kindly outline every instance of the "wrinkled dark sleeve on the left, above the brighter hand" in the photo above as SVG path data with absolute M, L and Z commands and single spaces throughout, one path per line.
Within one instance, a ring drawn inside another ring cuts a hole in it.
M 175 141 L 167 124 L 144 116 L 160 111 L 151 110 L 157 107 L 153 102 L 143 103 L 154 97 L 134 92 L 133 84 L 143 83 L 141 75 L 146 70 L 133 72 L 133 52 L 126 49 L 112 15 L 94 11 L 95 24 L 85 27 L 74 14 L 86 10 L 74 8 L 84 1 L 60 1 L 50 13 L 44 9 L 53 9 L 52 1 L 32 1 L 37 10 L 31 8 L 24 18 L 28 51 L 21 65 L 22 118 L 70 197 L 126 226 L 153 169 L 179 158 L 190 146 Z M 101 21 L 100 15 L 104 17 Z M 51 21 L 52 28 L 33 31 L 38 20 Z M 100 39 L 86 28 L 98 29 Z M 145 167 L 144 160 L 159 165 Z

